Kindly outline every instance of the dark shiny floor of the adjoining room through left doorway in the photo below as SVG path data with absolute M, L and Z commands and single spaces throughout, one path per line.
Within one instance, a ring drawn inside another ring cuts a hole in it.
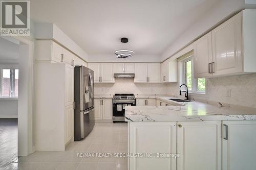
M 0 169 L 17 157 L 17 118 L 0 118 Z

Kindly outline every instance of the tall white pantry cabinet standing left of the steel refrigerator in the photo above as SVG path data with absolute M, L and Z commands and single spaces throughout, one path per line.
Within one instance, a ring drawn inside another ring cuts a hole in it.
M 34 112 L 36 150 L 65 151 L 74 139 L 73 66 L 65 62 L 35 64 Z

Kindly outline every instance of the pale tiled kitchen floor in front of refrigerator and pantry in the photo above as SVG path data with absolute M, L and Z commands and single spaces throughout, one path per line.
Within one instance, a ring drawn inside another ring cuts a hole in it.
M 86 139 L 70 143 L 66 151 L 37 151 L 19 157 L 4 169 L 127 169 L 127 158 L 77 157 L 77 153 L 127 153 L 127 133 L 125 123 L 96 123 Z

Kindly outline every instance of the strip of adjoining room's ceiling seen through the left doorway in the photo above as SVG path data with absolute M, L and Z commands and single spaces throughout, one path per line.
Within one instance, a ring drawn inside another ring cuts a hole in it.
M 18 42 L 7 40 L 8 37 L 0 37 L 0 59 L 17 59 L 19 55 Z

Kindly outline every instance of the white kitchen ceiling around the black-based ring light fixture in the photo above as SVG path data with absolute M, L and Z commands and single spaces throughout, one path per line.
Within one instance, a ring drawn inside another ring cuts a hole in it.
M 35 22 L 55 23 L 89 55 L 129 48 L 161 55 L 220 0 L 31 0 Z M 121 44 L 120 38 L 129 38 Z

